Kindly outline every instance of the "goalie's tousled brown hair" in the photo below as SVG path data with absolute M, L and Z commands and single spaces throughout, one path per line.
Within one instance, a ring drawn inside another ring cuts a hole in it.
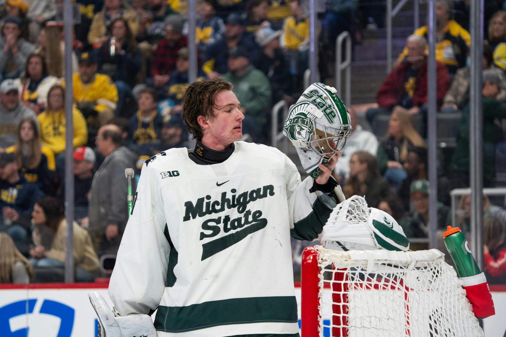
M 193 82 L 186 89 L 181 105 L 183 107 L 183 121 L 193 135 L 192 139 L 202 139 L 203 130 L 197 121 L 198 116 L 212 119 L 215 116 L 213 110 L 218 109 L 216 96 L 222 91 L 232 91 L 232 83 L 221 77 L 206 81 Z

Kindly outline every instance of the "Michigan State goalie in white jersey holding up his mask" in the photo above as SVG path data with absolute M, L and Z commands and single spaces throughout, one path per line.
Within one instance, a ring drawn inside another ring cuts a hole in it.
M 350 114 L 323 83 L 290 108 L 283 132 L 309 174 L 301 181 L 279 150 L 239 141 L 251 116 L 232 89 L 192 83 L 182 105 L 195 149 L 144 163 L 109 283 L 114 308 L 90 294 L 101 336 L 299 336 L 290 237 L 318 239 L 344 201 L 331 172 Z

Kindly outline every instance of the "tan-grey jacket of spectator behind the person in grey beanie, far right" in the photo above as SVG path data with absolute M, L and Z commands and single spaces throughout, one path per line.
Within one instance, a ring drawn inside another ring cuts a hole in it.
M 492 66 L 501 78 L 499 85 L 501 92 L 497 95 L 496 100 L 506 101 L 506 77 L 501 69 Z M 443 104 L 454 103 L 459 109 L 462 109 L 469 101 L 469 84 L 471 81 L 471 70 L 469 67 L 463 67 L 457 70 L 453 80 L 451 81 L 450 89 L 444 96 Z

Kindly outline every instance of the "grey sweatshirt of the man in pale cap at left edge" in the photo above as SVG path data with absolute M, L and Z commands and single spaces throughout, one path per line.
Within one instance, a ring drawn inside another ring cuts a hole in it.
M 21 119 L 31 117 L 35 121 L 37 117 L 32 109 L 21 103 L 14 110 L 7 111 L 0 103 L 0 148 L 6 148 L 16 144 L 16 134 Z M 38 127 L 38 122 L 37 122 Z

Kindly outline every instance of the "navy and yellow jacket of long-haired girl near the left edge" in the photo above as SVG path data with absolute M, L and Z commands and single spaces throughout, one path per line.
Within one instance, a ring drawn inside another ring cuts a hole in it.
M 16 145 L 5 149 L 7 153 L 14 153 L 16 151 Z M 49 194 L 53 192 L 53 182 L 55 178 L 55 154 L 51 149 L 45 145 L 40 147 L 40 161 L 34 168 L 28 168 L 25 166 L 25 158 L 21 167 L 19 168 L 20 175 L 29 183 L 35 183 L 41 191 Z

